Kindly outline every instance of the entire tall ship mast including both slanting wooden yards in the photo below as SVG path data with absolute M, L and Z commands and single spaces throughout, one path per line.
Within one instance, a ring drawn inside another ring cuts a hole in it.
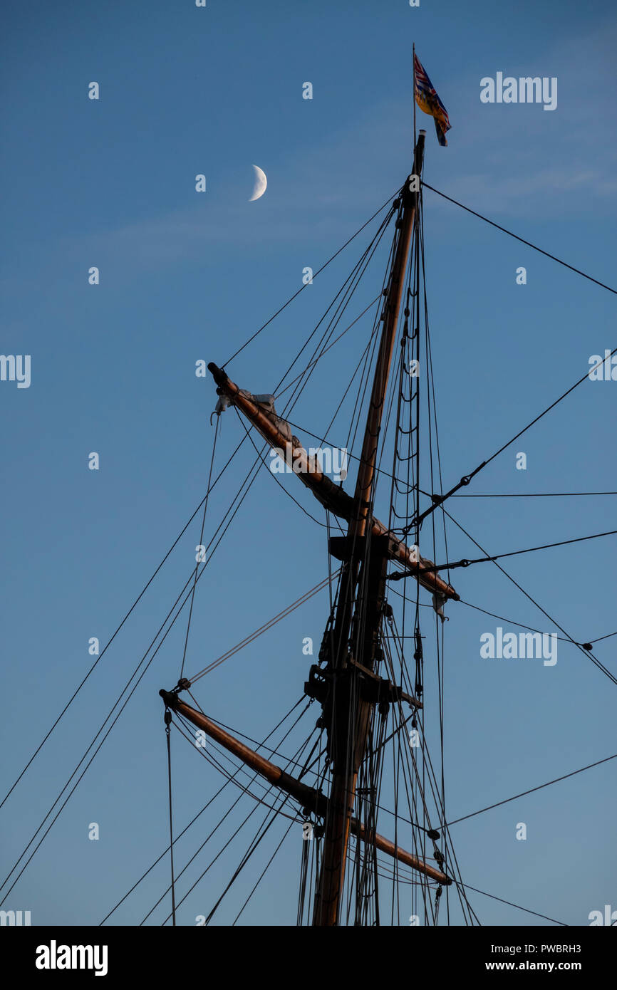
M 352 836 L 357 843 L 354 864 L 355 924 L 364 924 L 370 911 L 374 912 L 373 923 L 378 923 L 377 850 L 396 863 L 410 867 L 427 881 L 433 881 L 438 899 L 443 888 L 452 884 L 444 865 L 445 855 L 438 845 L 442 840 L 439 829 L 426 830 L 427 837 L 435 845 L 433 864 L 407 850 L 398 841 L 384 838 L 375 827 L 379 800 L 377 781 L 384 752 L 383 745 L 376 744 L 376 741 L 387 724 L 390 710 L 395 735 L 403 731 L 409 714 L 413 717 L 414 726 L 417 725 L 417 714 L 422 710 L 422 679 L 416 678 L 414 696 L 402 683 L 406 674 L 403 654 L 399 669 L 394 669 L 386 661 L 384 627 L 392 615 L 392 607 L 388 603 L 387 579 L 391 576 L 388 575 L 388 568 L 394 563 L 402 565 L 402 574 L 432 593 L 436 612 L 441 613 L 448 600 L 459 598 L 455 588 L 440 576 L 433 561 L 420 554 L 418 544 L 409 545 L 406 537 L 401 538 L 389 525 L 380 522 L 373 509 L 374 480 L 378 470 L 393 355 L 397 343 L 399 352 L 401 347 L 408 347 L 410 352 L 419 353 L 420 347 L 420 309 L 415 305 L 412 312 L 409 303 L 418 299 L 419 189 L 424 145 L 425 131 L 421 130 L 414 151 L 412 172 L 391 205 L 395 234 L 391 264 L 382 292 L 381 333 L 374 359 L 354 495 L 346 493 L 342 485 L 335 485 L 323 473 L 319 463 L 311 460 L 297 438 L 290 439 L 288 424 L 276 416 L 272 397 L 251 395 L 232 381 L 224 369 L 213 362 L 208 365 L 220 397 L 217 415 L 221 415 L 230 405 L 235 406 L 268 446 L 285 451 L 289 466 L 299 464 L 296 471 L 299 479 L 322 506 L 347 525 L 344 536 L 331 537 L 329 541 L 330 556 L 341 563 L 339 585 L 321 644 L 320 662 L 311 665 L 304 685 L 305 694 L 317 701 L 322 709 L 318 724 L 325 736 L 325 756 L 329 767 L 322 787 L 310 787 L 284 772 L 223 731 L 203 712 L 188 705 L 182 698 L 182 692 L 191 686 L 187 679 L 180 679 L 173 691 L 160 691 L 167 711 L 181 716 L 234 753 L 275 788 L 290 795 L 302 805 L 307 820 L 314 822 L 314 825 L 311 823 L 312 835 L 317 836 L 321 844 L 310 912 L 315 926 L 341 924 Z M 411 291 L 413 268 L 410 248 L 414 238 L 416 281 Z M 410 289 L 406 293 L 408 268 Z M 397 341 L 402 307 L 404 321 Z M 411 358 L 414 359 L 419 360 L 418 357 Z M 419 379 L 410 377 L 409 381 L 407 401 L 417 410 Z M 414 430 L 417 432 L 417 426 Z M 417 451 L 412 450 L 411 458 L 414 456 L 417 456 Z M 408 530 L 408 521 L 406 524 L 405 529 Z M 418 513 L 412 528 L 419 535 Z M 394 576 L 398 578 L 401 573 Z M 423 647 L 419 624 L 413 641 L 416 660 L 421 660 Z M 415 765 L 413 772 L 418 772 Z

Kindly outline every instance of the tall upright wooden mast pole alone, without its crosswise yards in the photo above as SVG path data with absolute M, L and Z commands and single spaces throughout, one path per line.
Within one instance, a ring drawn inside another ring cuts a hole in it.
M 414 152 L 413 174 L 420 175 L 425 132 L 420 131 Z M 373 538 L 371 519 L 373 476 L 383 406 L 403 293 L 409 246 L 417 216 L 418 193 L 406 182 L 401 190 L 402 210 L 397 221 L 398 237 L 386 289 L 385 320 L 366 418 L 354 508 L 348 529 L 347 560 L 344 563 L 337 601 L 331 655 L 331 695 L 324 706 L 329 734 L 333 779 L 324 834 L 322 868 L 315 899 L 315 926 L 339 923 L 341 895 L 350 836 L 358 772 L 368 733 L 371 703 L 362 697 L 356 665 L 350 663 L 350 646 L 361 665 L 375 663 L 383 606 L 388 537 Z M 370 545 L 370 554 L 368 553 Z M 360 587 L 359 587 L 360 579 Z M 351 640 L 354 638 L 354 644 Z M 325 643 L 327 638 L 325 639 Z

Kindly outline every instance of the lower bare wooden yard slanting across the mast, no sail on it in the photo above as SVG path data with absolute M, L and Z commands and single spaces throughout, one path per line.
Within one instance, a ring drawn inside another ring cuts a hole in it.
M 225 732 L 220 726 L 217 726 L 216 722 L 212 722 L 206 715 L 202 715 L 201 712 L 197 712 L 194 708 L 186 705 L 183 701 L 180 701 L 177 694 L 172 691 L 161 690 L 158 692 L 160 697 L 163 699 L 165 705 L 172 711 L 177 712 L 182 718 L 186 719 L 187 722 L 192 722 L 194 726 L 198 729 L 203 730 L 206 736 L 220 743 L 229 752 L 234 753 L 239 759 L 242 759 L 243 763 L 250 766 L 253 770 L 256 770 L 262 777 L 268 780 L 275 787 L 279 787 L 280 790 L 285 791 L 287 794 L 291 794 L 292 797 L 296 798 L 300 802 L 303 808 L 307 811 L 314 812 L 320 818 L 325 818 L 327 808 L 328 808 L 328 798 L 321 791 L 316 790 L 314 787 L 309 787 L 308 784 L 303 784 L 301 780 L 296 780 L 290 774 L 285 773 L 281 770 L 279 766 L 275 763 L 270 762 L 269 759 L 265 759 L 264 756 L 259 755 L 255 749 L 251 749 L 245 743 L 241 743 L 237 740 L 235 736 L 230 733 Z M 358 822 L 356 819 L 351 821 L 351 830 L 355 836 L 360 839 L 360 841 L 369 841 L 374 844 L 381 852 L 386 852 L 388 855 L 392 856 L 394 859 L 398 859 L 400 862 L 405 863 L 407 866 L 411 866 L 412 869 L 417 870 L 419 873 L 424 873 L 425 876 L 431 877 L 432 880 L 437 880 L 438 883 L 442 883 L 448 886 L 452 883 L 452 879 L 441 870 L 436 869 L 434 866 L 430 866 L 429 863 L 423 862 L 413 853 L 407 852 L 406 849 L 401 849 L 394 842 L 389 841 L 389 839 L 384 839 L 383 836 L 379 836 L 377 833 L 367 832 L 364 826 Z

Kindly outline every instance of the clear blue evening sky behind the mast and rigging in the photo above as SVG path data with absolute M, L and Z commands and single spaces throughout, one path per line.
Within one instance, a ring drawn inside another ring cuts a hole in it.
M 2 352 L 31 354 L 32 384 L 0 383 L 7 425 L 3 686 L 10 699 L 3 794 L 87 669 L 89 638 L 107 641 L 203 496 L 216 396 L 209 378 L 195 377 L 195 361 L 226 360 L 296 291 L 302 269 L 318 268 L 410 170 L 413 42 L 452 123 L 449 147 L 439 148 L 432 122 L 418 112 L 418 126 L 427 129 L 427 182 L 608 284 L 615 281 L 617 198 L 617 28 L 608 3 L 209 2 L 196 9 L 188 0 L 35 2 L 9 5 L 5 22 Z M 479 81 L 497 71 L 557 76 L 557 110 L 481 104 Z M 87 98 L 92 80 L 100 84 L 98 101 Z M 312 101 L 302 99 L 306 80 Z M 268 187 L 251 203 L 253 163 L 267 173 Z M 202 195 L 197 173 L 207 177 Z M 615 347 L 615 304 L 605 290 L 429 191 L 425 237 L 450 487 L 579 378 L 589 355 Z M 232 361 L 228 371 L 242 387 L 274 387 L 366 243 L 354 242 Z M 384 263 L 381 252 L 352 316 L 376 295 Z M 88 285 L 91 265 L 100 268 L 98 286 Z M 519 265 L 527 268 L 525 286 L 515 283 Z M 358 333 L 320 363 L 294 422 L 315 433 L 326 427 L 368 331 L 360 321 Z M 614 382 L 583 383 L 467 491 L 615 490 L 615 390 Z M 341 444 L 344 423 L 333 437 Z M 227 413 L 219 468 L 242 436 Z M 100 454 L 98 472 L 87 469 L 92 450 Z M 527 453 L 526 471 L 515 469 L 518 450 Z M 243 447 L 213 493 L 210 536 L 252 453 Z M 295 480 L 284 484 L 323 521 Z M 380 494 L 384 500 L 385 488 Z M 614 497 L 453 499 L 449 511 L 495 553 L 613 529 L 614 504 Z M 198 525 L 0 811 L 7 869 L 188 577 Z M 453 559 L 479 555 L 452 524 L 448 539 Z M 584 641 L 615 631 L 614 557 L 615 538 L 606 538 L 504 565 Z M 188 672 L 326 573 L 324 531 L 262 472 L 198 585 Z M 465 602 L 556 631 L 496 568 L 455 573 Z M 200 681 L 200 704 L 249 736 L 265 736 L 300 696 L 310 662 L 302 639 L 319 642 L 327 612 L 323 593 Z M 491 665 L 479 656 L 479 637 L 498 623 L 462 604 L 448 614 L 451 819 L 614 750 L 617 689 L 579 650 L 560 644 L 551 668 Z M 178 622 L 156 655 L 5 908 L 32 910 L 33 924 L 98 924 L 164 848 L 157 690 L 177 679 L 184 629 Z M 596 647 L 614 673 L 616 642 Z M 433 725 L 434 662 L 427 659 Z M 312 710 L 303 722 L 304 737 L 315 717 Z M 174 740 L 178 825 L 222 781 L 182 746 L 188 749 Z M 614 762 L 604 764 L 454 826 L 463 879 L 569 925 L 587 924 L 604 904 L 617 908 L 615 772 Z M 210 827 L 216 821 L 213 812 Z M 99 841 L 87 839 L 90 822 L 99 823 Z M 518 822 L 527 824 L 527 841 L 514 838 Z M 181 864 L 205 837 L 206 825 L 200 828 L 181 846 Z M 295 920 L 301 840 L 294 835 L 239 924 Z M 274 836 L 268 841 L 272 851 Z M 207 913 L 242 848 L 222 857 L 189 895 L 179 924 Z M 139 923 L 167 873 L 165 861 L 116 922 Z M 219 924 L 233 921 L 241 894 L 223 906 Z M 471 903 L 483 924 L 534 921 L 480 895 Z M 162 922 L 161 911 L 151 924 Z

